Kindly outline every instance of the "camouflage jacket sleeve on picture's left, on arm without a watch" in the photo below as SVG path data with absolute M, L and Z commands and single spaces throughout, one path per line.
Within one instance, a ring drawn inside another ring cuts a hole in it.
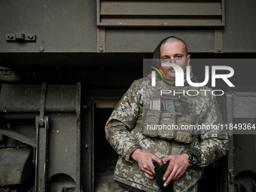
M 130 158 L 131 154 L 137 148 L 141 148 L 136 136 L 130 133 L 136 124 L 139 109 L 142 107 L 141 81 L 133 82 L 114 108 L 105 126 L 106 139 L 114 151 L 131 163 L 134 161 Z

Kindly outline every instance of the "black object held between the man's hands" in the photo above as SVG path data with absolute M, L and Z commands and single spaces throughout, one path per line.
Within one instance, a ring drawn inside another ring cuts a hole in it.
M 173 191 L 173 183 L 172 181 L 169 182 L 169 184 L 166 187 L 163 187 L 164 181 L 163 181 L 163 175 L 166 172 L 167 167 L 169 166 L 168 163 L 163 163 L 162 166 L 160 166 L 157 162 L 154 163 L 154 172 L 156 172 L 157 175 L 157 184 L 159 185 L 162 192 L 172 192 Z

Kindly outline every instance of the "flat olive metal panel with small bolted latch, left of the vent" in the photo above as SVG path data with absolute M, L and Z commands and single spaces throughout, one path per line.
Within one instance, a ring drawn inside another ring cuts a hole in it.
M 96 52 L 93 0 L 2 0 L 0 52 Z M 35 41 L 6 41 L 6 34 L 35 34 Z

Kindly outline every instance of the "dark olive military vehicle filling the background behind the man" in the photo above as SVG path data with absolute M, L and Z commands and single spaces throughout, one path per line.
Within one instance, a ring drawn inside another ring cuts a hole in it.
M 186 42 L 200 82 L 204 66 L 218 62 L 199 61 L 227 59 L 235 87 L 221 80 L 215 87 L 224 90 L 224 120 L 254 125 L 255 7 L 252 0 L 2 0 L 0 191 L 115 191 L 106 120 L 142 78 L 143 59 L 170 35 Z M 229 153 L 204 169 L 200 191 L 232 192 L 239 172 L 256 172 L 255 135 L 229 136 Z

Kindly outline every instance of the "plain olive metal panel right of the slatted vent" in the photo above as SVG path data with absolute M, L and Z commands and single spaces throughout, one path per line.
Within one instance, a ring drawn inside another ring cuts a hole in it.
M 256 1 L 225 1 L 224 53 L 256 52 Z

